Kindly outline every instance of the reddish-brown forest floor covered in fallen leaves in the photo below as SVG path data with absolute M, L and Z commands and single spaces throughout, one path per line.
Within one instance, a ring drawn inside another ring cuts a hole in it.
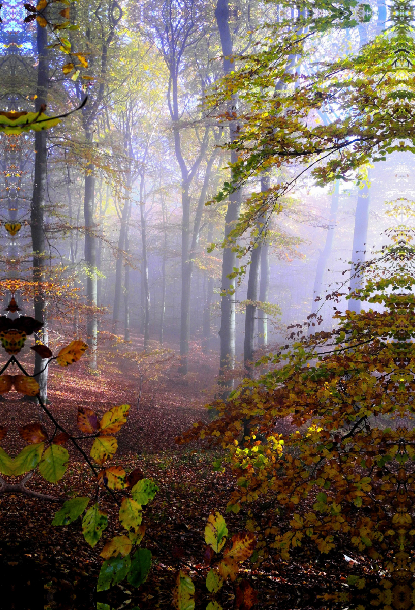
M 154 479 L 160 488 L 144 512 L 147 530 L 142 545 L 151 549 L 154 565 L 147 583 L 138 592 L 118 585 L 109 594 L 97 597 L 94 587 L 102 563 L 99 552 L 105 539 L 121 533 L 119 524 L 117 529 L 111 523 L 111 515 L 118 508 L 104 498 L 110 525 L 102 540 L 91 549 L 83 539 L 80 520 L 66 527 L 52 527 L 59 503 L 23 495 L 4 495 L 0 501 L 0 584 L 2 597 L 7 599 L 10 595 L 16 610 L 94 608 L 97 600 L 108 604 L 108 607 L 99 606 L 100 610 L 123 606 L 169 608 L 174 574 L 178 569 L 190 571 L 200 584 L 196 608 L 206 608 L 212 601 L 200 577 L 205 570 L 207 517 L 211 512 L 221 512 L 230 533 L 235 533 L 245 528 L 247 515 L 243 511 L 238 515 L 225 514 L 235 481 L 226 470 L 213 472 L 212 463 L 218 453 L 204 453 L 200 447 L 178 446 L 174 439 L 193 422 L 208 420 L 204 404 L 215 386 L 216 364 L 213 357 L 210 361 L 205 359 L 202 365 L 200 362 L 195 365 L 199 370 L 196 373 L 191 370 L 184 380 L 177 375 L 177 367 L 176 370 L 171 368 L 167 376 L 144 382 L 141 379 L 139 406 L 140 373 L 133 361 L 126 362 L 112 353 L 106 357 L 101 355 L 97 373 L 91 373 L 82 361 L 70 368 L 52 367 L 48 408 L 69 430 L 76 430 L 79 406 L 90 407 L 101 415 L 116 404 L 131 404 L 129 421 L 117 435 L 119 451 L 113 464 L 122 465 L 127 471 L 140 468 L 144 476 Z M 1 404 L 1 425 L 10 426 L 2 447 L 15 453 L 24 445 L 16 425 L 40 421 L 40 408 L 20 400 L 2 401 Z M 45 417 L 42 422 L 49 428 Z M 27 487 L 60 498 L 92 495 L 94 481 L 87 467 L 75 454 L 72 457 L 60 483 L 48 484 L 35 473 Z M 265 522 L 268 517 L 264 513 L 262 518 Z M 116 522 L 118 520 L 113 520 Z M 225 586 L 216 598 L 218 605 L 211 606 L 210 610 L 221 606 L 249 610 L 255 599 L 260 600 L 258 608 L 272 608 L 276 604 L 278 587 L 284 583 L 285 592 L 280 590 L 278 594 L 279 608 L 294 608 L 293 595 L 303 598 L 302 608 L 311 607 L 314 602 L 310 600 L 316 600 L 315 592 L 325 589 L 330 581 L 335 583 L 339 573 L 346 569 L 347 563 L 341 554 L 330 559 L 328 567 L 319 563 L 318 558 L 311 561 L 310 554 L 302 555 L 302 551 L 297 553 L 297 561 L 290 565 L 269 558 L 261 570 L 244 570 L 242 583 Z M 254 594 L 252 589 L 257 592 Z

